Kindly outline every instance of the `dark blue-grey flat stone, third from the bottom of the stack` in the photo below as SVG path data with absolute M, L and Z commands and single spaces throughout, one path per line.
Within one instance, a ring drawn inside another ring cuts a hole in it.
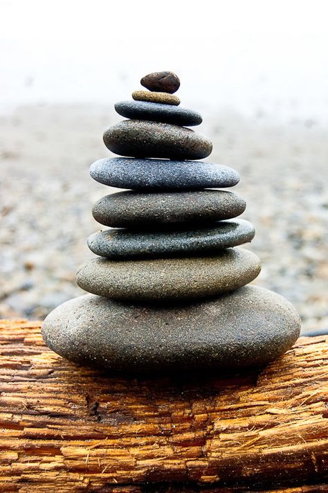
M 131 231 L 108 229 L 88 238 L 93 253 L 107 258 L 190 256 L 205 255 L 253 240 L 253 224 L 244 219 L 230 219 L 190 230 Z

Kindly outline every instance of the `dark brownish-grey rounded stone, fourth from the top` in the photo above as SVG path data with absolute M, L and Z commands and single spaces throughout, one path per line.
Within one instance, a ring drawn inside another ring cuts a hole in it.
M 203 159 L 212 143 L 193 130 L 170 123 L 125 120 L 104 132 L 104 144 L 115 154 L 132 157 Z

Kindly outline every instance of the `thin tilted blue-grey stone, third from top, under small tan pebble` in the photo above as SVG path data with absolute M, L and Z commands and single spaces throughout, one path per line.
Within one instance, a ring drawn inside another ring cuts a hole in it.
M 116 102 L 115 109 L 119 115 L 136 120 L 152 120 L 185 127 L 199 125 L 202 122 L 201 115 L 197 111 L 180 106 L 162 105 L 158 102 L 120 101 Z

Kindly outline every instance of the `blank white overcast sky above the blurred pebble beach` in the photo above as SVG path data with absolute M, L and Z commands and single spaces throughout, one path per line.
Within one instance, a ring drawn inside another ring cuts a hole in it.
M 325 0 L 0 0 L 0 108 L 129 99 L 173 70 L 182 104 L 328 123 Z

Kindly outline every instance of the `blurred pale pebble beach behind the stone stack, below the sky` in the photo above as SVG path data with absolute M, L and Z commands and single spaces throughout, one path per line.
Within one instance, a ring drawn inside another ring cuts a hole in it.
M 203 116 L 208 161 L 242 175 L 234 190 L 256 229 L 248 248 L 262 260 L 255 284 L 286 296 L 303 330 L 328 328 L 328 129 Z M 120 119 L 91 106 L 24 107 L 0 118 L 0 318 L 44 318 L 82 294 L 75 271 L 93 256 L 86 237 L 100 228 L 91 206 L 113 190 L 89 177 L 89 165 L 110 154 L 102 133 Z

